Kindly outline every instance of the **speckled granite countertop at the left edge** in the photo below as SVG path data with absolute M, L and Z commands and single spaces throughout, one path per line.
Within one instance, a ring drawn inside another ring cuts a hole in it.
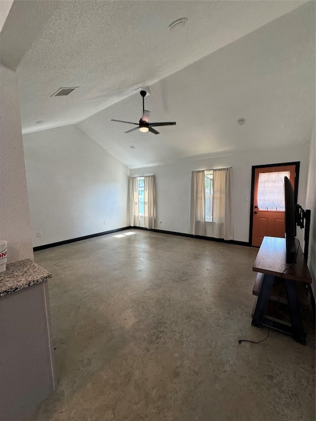
M 51 278 L 51 273 L 31 259 L 6 265 L 0 272 L 0 297 Z

